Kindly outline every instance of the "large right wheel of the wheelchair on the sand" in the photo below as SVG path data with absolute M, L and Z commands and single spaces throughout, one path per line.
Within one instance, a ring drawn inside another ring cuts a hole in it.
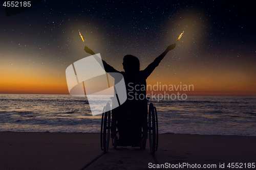
M 148 133 L 150 140 L 150 152 L 152 155 L 155 154 L 158 148 L 158 123 L 156 121 L 157 116 L 155 110 L 154 105 L 151 103 L 148 109 Z

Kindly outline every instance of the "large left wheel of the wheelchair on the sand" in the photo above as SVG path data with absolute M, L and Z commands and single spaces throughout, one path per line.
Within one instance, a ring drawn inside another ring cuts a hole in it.
M 109 143 L 110 143 L 110 129 L 111 129 L 111 111 L 110 111 L 110 104 L 106 104 L 105 110 L 109 110 L 104 112 L 104 120 L 103 120 L 103 152 L 108 153 L 109 151 Z

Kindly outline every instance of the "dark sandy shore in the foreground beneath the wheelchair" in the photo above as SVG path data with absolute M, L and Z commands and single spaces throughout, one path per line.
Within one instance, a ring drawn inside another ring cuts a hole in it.
M 256 164 L 256 136 L 161 134 L 155 156 L 148 141 L 145 151 L 110 147 L 102 153 L 99 134 L 0 132 L 0 169 L 148 169 L 149 163 L 216 165 L 198 169 L 232 169 L 228 163 L 240 163 L 249 169 L 245 165 Z

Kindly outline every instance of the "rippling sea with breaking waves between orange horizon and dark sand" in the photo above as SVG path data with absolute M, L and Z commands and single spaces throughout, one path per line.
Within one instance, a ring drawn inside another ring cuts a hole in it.
M 255 96 L 187 96 L 151 100 L 159 133 L 256 136 Z M 99 108 L 101 109 L 101 108 Z M 0 131 L 99 133 L 86 98 L 71 95 L 0 94 Z

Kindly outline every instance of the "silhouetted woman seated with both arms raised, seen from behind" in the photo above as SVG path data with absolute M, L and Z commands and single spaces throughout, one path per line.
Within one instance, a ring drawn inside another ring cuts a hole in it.
M 127 100 L 119 107 L 116 108 L 117 112 L 117 128 L 119 131 L 119 141 L 124 146 L 132 145 L 137 146 L 140 140 L 140 131 L 131 131 L 127 128 L 127 119 L 133 119 L 135 122 L 135 129 L 141 128 L 143 119 L 143 109 L 145 107 L 146 99 L 146 79 L 154 69 L 158 66 L 164 56 L 175 48 L 176 44 L 169 45 L 166 50 L 158 56 L 151 64 L 149 64 L 144 70 L 140 70 L 140 61 L 133 55 L 126 55 L 123 57 L 123 69 L 124 71 L 118 71 L 111 65 L 102 60 L 104 69 L 106 72 L 118 72 L 123 75 Z M 94 55 L 95 53 L 88 48 L 84 47 L 84 51 Z M 123 135 L 125 134 L 125 135 Z M 134 143 L 129 143 L 130 138 L 138 139 Z

